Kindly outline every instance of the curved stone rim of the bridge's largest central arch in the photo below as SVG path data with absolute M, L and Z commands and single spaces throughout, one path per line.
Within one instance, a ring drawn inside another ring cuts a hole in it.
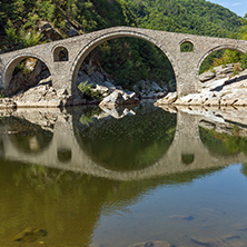
M 76 57 L 76 59 L 72 62 L 72 67 L 70 70 L 70 78 L 71 78 L 71 89 L 72 91 L 76 91 L 77 85 L 77 75 L 79 72 L 80 66 L 82 65 L 83 60 L 86 59 L 86 57 L 96 48 L 98 47 L 100 43 L 108 41 L 110 39 L 116 39 L 116 38 L 122 38 L 122 37 L 132 37 L 132 38 L 138 38 L 138 39 L 142 39 L 146 40 L 148 42 L 154 43 L 156 47 L 158 47 L 164 53 L 165 56 L 169 59 L 172 69 L 174 69 L 174 73 L 175 73 L 175 78 L 177 79 L 178 77 L 178 69 L 176 66 L 175 60 L 172 59 L 171 55 L 169 53 L 169 51 L 166 49 L 166 47 L 164 45 L 160 45 L 157 40 L 152 39 L 151 37 L 140 33 L 138 31 L 130 31 L 130 30 L 120 30 L 120 31 L 111 31 L 108 32 L 106 34 L 102 34 L 96 39 L 93 39 L 91 42 L 89 42 L 87 46 L 85 46 L 80 52 L 78 53 L 78 56 Z

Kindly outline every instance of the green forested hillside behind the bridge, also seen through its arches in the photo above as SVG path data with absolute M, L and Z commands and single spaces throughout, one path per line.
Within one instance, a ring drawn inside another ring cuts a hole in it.
M 56 36 L 42 31 L 42 23 L 49 23 Z M 0 52 L 115 26 L 247 39 L 247 16 L 240 18 L 205 0 L 1 0 Z M 201 72 L 215 58 L 224 58 L 224 63 L 234 56 L 221 51 L 209 57 Z M 108 41 L 93 50 L 90 59 L 122 86 L 140 79 L 175 79 L 161 51 L 138 39 Z

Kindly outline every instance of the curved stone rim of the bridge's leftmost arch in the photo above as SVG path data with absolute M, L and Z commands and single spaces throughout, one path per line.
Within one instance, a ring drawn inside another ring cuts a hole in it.
M 33 55 L 33 53 L 18 55 L 18 56 L 13 57 L 13 58 L 7 63 L 7 66 L 6 66 L 4 70 L 3 70 L 3 71 L 4 71 L 4 75 L 3 75 L 3 78 L 4 78 L 4 88 L 6 88 L 6 89 L 9 87 L 9 83 L 10 83 L 10 81 L 11 81 L 12 73 L 13 73 L 13 70 L 14 70 L 16 66 L 17 66 L 18 63 L 20 63 L 22 60 L 27 59 L 27 58 L 36 58 L 36 59 L 39 59 L 40 61 L 42 61 L 42 62 L 47 66 L 47 68 L 48 68 L 49 71 L 50 71 L 50 75 L 51 75 L 51 69 L 50 69 L 48 62 L 47 62 L 43 58 L 41 58 L 41 57 L 39 57 L 39 56 L 37 56 L 37 55 Z

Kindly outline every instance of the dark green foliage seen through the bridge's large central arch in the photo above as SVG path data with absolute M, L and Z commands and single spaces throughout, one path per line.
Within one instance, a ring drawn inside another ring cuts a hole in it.
M 97 57 L 96 57 L 97 55 Z M 156 46 L 139 39 L 120 38 L 99 46 L 86 60 L 97 58 L 103 70 L 131 90 L 141 80 L 175 81 L 172 67 Z

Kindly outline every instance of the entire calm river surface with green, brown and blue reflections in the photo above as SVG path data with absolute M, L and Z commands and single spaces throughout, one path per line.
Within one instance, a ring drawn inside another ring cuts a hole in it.
M 237 119 L 149 103 L 4 115 L 0 246 L 247 246 Z

